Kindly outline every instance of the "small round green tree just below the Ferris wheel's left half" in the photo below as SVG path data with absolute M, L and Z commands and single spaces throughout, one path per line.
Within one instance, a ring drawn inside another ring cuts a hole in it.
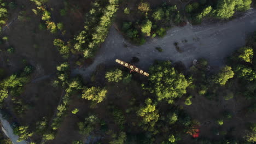
M 105 77 L 108 82 L 119 82 L 120 80 L 122 80 L 123 71 L 121 71 L 120 69 L 110 70 L 107 71 Z

